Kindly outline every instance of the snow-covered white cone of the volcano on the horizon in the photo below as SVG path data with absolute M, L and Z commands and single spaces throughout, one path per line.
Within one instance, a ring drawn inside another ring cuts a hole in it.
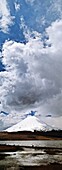
M 40 122 L 39 119 L 35 116 L 28 116 L 21 122 L 17 123 L 16 125 L 13 125 L 12 127 L 6 129 L 7 132 L 17 132 L 17 131 L 46 131 L 49 130 L 48 125 L 46 125 L 44 122 Z

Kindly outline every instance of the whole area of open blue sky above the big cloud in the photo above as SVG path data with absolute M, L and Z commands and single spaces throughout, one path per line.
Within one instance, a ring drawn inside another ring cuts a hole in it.
M 18 12 L 15 10 L 15 2 L 19 3 L 21 6 Z M 26 3 L 25 0 L 9 0 L 8 6 L 11 16 L 14 16 L 14 20 L 13 24 L 9 26 L 8 34 L 0 32 L 0 44 L 4 43 L 5 39 L 11 39 L 19 42 L 25 41 L 23 29 L 20 29 L 21 16 L 23 16 L 25 24 L 30 31 L 43 33 L 45 28 L 60 17 L 59 12 L 55 8 L 52 9 L 53 3 L 54 0 L 36 0 L 33 5 L 30 5 L 30 3 Z

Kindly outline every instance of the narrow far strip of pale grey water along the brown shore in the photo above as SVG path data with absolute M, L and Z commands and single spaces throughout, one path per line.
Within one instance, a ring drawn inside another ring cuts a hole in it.
M 61 140 L 0 141 L 0 144 L 62 148 Z

